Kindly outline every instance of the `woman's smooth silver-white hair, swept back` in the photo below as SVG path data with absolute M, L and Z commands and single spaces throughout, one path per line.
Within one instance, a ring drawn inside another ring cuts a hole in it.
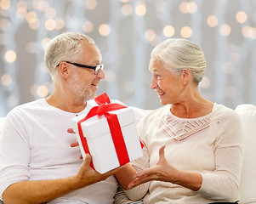
M 161 42 L 152 50 L 151 58 L 159 59 L 173 73 L 189 68 L 197 85 L 206 71 L 202 48 L 183 38 L 170 38 Z

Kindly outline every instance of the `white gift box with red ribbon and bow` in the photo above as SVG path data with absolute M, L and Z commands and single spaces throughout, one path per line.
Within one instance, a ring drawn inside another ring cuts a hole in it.
M 134 111 L 111 104 L 106 94 L 95 101 L 99 106 L 92 108 L 87 116 L 71 119 L 82 157 L 89 153 L 91 166 L 99 173 L 106 173 L 143 156 Z

